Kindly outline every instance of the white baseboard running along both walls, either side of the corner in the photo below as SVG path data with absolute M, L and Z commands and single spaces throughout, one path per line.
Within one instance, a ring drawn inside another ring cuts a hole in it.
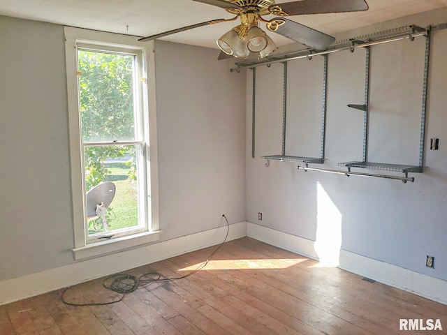
M 219 244 L 225 234 L 226 227 L 220 227 L 169 241 L 149 244 L 122 253 L 75 262 L 64 267 L 1 281 L 0 306 Z M 318 254 L 314 249 L 314 241 L 312 240 L 254 223 L 240 222 L 230 225 L 227 241 L 244 236 L 318 260 Z M 349 251 L 340 251 L 339 260 L 339 268 L 341 269 L 447 304 L 447 281 Z

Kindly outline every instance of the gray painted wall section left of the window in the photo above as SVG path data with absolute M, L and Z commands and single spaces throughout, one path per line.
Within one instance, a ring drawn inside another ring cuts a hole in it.
M 64 29 L 0 17 L 0 280 L 73 262 Z

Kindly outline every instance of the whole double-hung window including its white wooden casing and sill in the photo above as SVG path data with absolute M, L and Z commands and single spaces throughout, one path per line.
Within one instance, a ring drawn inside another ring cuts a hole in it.
M 75 258 L 155 241 L 154 57 L 131 36 L 65 34 Z

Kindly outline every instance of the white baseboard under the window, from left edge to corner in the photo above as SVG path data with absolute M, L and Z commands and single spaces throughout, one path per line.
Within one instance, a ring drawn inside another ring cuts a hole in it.
M 64 267 L 1 281 L 0 306 L 219 244 L 225 237 L 226 229 L 225 226 L 206 230 L 122 253 L 74 262 Z M 246 222 L 230 225 L 227 241 L 244 236 L 247 236 Z

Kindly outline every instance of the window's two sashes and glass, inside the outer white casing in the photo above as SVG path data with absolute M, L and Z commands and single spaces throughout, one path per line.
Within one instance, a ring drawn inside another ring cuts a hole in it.
M 103 215 L 101 208 L 88 213 L 92 204 L 101 205 L 93 202 L 101 194 L 86 197 L 87 242 L 147 230 L 141 50 L 108 49 L 81 43 L 77 48 L 85 192 L 101 190 L 97 186 L 106 181 L 115 188 Z M 110 191 L 103 190 L 107 197 Z

